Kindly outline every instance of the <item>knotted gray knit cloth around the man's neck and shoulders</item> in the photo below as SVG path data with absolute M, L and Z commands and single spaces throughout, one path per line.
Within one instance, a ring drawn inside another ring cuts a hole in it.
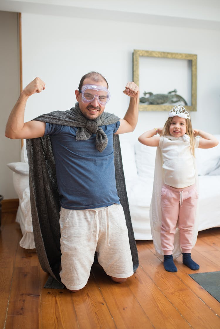
M 95 120 L 87 119 L 80 111 L 78 103 L 75 107 L 72 107 L 69 111 L 54 111 L 48 114 L 42 114 L 34 120 L 61 124 L 64 126 L 77 127 L 76 140 L 86 140 L 89 139 L 92 134 L 96 134 L 96 149 L 102 152 L 107 144 L 108 138 L 100 126 L 115 123 L 120 120 L 120 118 L 114 114 L 103 112 Z

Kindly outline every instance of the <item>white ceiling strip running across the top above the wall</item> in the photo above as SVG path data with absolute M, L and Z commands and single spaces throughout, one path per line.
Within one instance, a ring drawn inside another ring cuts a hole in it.
M 220 30 L 220 0 L 0 0 L 0 10 Z

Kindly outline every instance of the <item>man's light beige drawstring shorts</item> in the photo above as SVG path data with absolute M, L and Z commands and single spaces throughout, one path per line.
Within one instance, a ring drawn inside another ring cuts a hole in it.
M 85 210 L 61 208 L 60 231 L 60 277 L 69 290 L 86 285 L 95 251 L 107 275 L 127 278 L 134 273 L 121 205 Z

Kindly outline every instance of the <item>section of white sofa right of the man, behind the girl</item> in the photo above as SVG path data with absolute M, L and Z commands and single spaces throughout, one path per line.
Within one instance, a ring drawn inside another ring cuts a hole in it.
M 220 135 L 215 135 L 220 141 Z M 156 147 L 120 138 L 135 240 L 151 240 L 150 204 Z M 196 149 L 199 174 L 199 231 L 220 227 L 220 143 Z

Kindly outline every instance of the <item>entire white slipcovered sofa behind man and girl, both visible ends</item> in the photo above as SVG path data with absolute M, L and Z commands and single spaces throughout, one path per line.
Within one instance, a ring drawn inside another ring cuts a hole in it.
M 220 135 L 216 135 L 220 141 Z M 155 147 L 131 142 L 120 136 L 124 176 L 136 240 L 152 240 L 149 210 L 153 187 Z M 196 150 L 199 173 L 199 231 L 220 227 L 220 144 L 211 149 Z M 20 246 L 35 248 L 29 190 L 29 170 L 26 146 L 21 150 L 21 162 L 8 164 L 13 170 L 14 188 L 19 198 L 16 221 L 23 234 Z

